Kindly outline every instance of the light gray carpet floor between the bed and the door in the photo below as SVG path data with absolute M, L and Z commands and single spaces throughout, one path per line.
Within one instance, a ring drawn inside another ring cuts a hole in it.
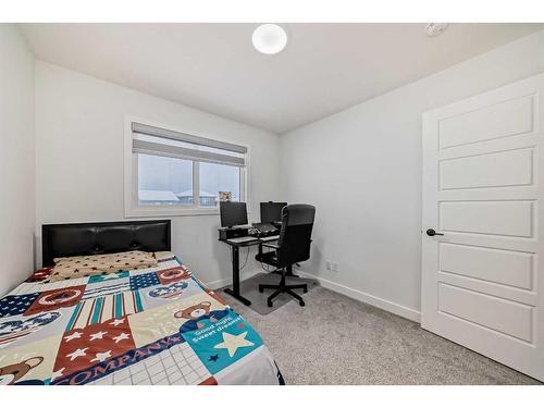
M 305 308 L 290 301 L 267 316 L 224 297 L 262 335 L 287 384 L 540 384 L 320 286 L 305 295 Z

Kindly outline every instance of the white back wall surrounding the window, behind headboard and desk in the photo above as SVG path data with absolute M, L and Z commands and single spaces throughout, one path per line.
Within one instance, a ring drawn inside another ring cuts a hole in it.
M 259 218 L 260 201 L 276 198 L 275 134 L 36 61 L 38 234 L 44 223 L 123 220 L 124 115 L 249 146 L 250 219 Z M 207 283 L 231 276 L 218 226 L 219 215 L 173 218 L 174 252 Z

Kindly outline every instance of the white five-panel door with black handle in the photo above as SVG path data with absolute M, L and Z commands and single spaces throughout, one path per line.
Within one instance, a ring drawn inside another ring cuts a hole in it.
M 541 381 L 543 97 L 539 75 L 423 114 L 421 299 L 423 329 Z

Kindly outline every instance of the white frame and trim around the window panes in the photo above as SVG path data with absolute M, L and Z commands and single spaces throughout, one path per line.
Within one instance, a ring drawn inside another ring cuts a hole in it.
M 233 143 L 222 137 L 208 136 L 190 129 L 183 129 L 170 124 L 153 123 L 140 118 L 124 118 L 124 215 L 125 218 L 138 217 L 187 217 L 187 215 L 218 215 L 219 206 L 213 208 L 200 207 L 200 177 L 198 161 L 193 160 L 193 206 L 143 206 L 138 199 L 138 158 L 133 153 L 133 129 L 132 123 L 137 122 L 149 126 L 161 127 L 173 132 L 210 138 L 218 141 Z M 250 148 L 245 144 L 236 141 L 237 145 L 247 149 L 245 165 L 239 166 L 240 201 L 248 201 L 248 173 L 250 166 Z

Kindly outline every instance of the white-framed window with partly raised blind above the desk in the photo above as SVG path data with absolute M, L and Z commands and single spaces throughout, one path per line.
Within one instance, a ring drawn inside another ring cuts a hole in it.
M 217 213 L 220 191 L 245 200 L 247 148 L 129 122 L 125 215 Z

